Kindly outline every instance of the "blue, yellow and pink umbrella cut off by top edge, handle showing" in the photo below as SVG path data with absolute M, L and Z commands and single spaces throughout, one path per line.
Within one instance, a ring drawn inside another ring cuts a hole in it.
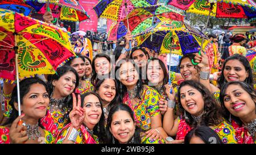
M 128 20 L 127 15 L 135 7 L 156 5 L 157 2 L 158 0 L 101 0 L 93 9 L 98 18 L 122 21 L 124 19 Z M 127 24 L 127 30 L 130 31 L 129 23 Z

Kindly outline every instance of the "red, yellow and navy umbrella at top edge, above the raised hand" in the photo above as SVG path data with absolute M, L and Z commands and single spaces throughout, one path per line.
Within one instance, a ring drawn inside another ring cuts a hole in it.
M 26 3 L 32 6 L 39 14 L 44 14 L 47 11 L 46 1 L 26 0 Z M 50 0 L 49 8 L 52 11 L 53 18 L 60 18 L 60 20 L 81 22 L 89 19 L 87 12 L 82 8 L 79 2 L 75 0 Z

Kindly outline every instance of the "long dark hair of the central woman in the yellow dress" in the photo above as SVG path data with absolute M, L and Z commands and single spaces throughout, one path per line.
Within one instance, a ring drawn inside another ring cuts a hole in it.
M 121 91 L 120 93 L 120 97 L 121 99 L 124 97 L 125 93 L 127 92 L 127 88 L 125 85 L 123 85 L 123 83 L 120 81 L 120 76 L 119 76 L 119 69 L 121 68 L 122 64 L 126 63 L 126 62 L 130 62 L 133 64 L 133 66 L 135 67 L 135 70 L 137 71 L 138 75 L 139 75 L 139 79 L 136 83 L 138 89 L 137 89 L 137 93 L 136 93 L 136 97 L 137 98 L 141 98 L 141 90 L 143 88 L 143 81 L 141 79 L 141 72 L 139 72 L 139 68 L 137 65 L 134 64 L 134 61 L 129 59 L 129 58 L 122 58 L 121 60 L 119 60 L 115 66 L 115 78 L 117 79 L 117 83 L 119 86 L 119 89 Z

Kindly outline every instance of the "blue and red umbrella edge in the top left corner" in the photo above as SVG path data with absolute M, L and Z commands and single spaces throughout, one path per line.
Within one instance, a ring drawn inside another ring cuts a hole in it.
M 8 9 L 26 16 L 30 15 L 34 9 L 22 0 L 0 0 L 0 9 Z

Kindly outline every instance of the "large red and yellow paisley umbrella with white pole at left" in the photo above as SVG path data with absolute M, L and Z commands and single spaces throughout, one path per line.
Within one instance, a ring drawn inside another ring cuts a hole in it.
M 55 74 L 59 65 L 75 56 L 69 36 L 56 26 L 0 10 L 0 78 L 16 81 L 35 74 Z M 20 100 L 19 115 L 20 115 Z

